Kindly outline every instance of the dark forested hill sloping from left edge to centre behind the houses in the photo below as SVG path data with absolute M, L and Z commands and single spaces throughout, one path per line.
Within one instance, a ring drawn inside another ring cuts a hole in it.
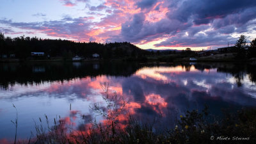
M 72 58 L 73 56 L 92 57 L 97 53 L 100 58 L 141 58 L 150 52 L 136 47 L 129 42 L 113 42 L 100 44 L 97 42 L 74 42 L 71 40 L 51 40 L 38 37 L 18 36 L 11 38 L 0 33 L 0 56 L 26 59 L 31 57 L 31 52 L 44 52 L 45 57 Z

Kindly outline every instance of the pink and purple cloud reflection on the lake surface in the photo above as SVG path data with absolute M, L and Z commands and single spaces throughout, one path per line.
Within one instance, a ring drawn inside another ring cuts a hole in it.
M 101 75 L 64 81 L 46 81 L 27 86 L 17 83 L 8 90 L 0 90 L 0 99 L 8 102 L 19 101 L 26 97 L 33 97 L 38 102 L 45 97 L 64 100 L 58 104 L 51 103 L 51 108 L 55 109 L 59 109 L 60 105 L 68 106 L 68 103 L 79 105 L 86 101 L 85 107 L 89 109 L 88 104 L 104 103 L 100 98 L 104 96 L 100 83 L 106 83 L 109 84 L 109 93 L 116 92 L 125 100 L 129 100 L 126 110 L 132 116 L 141 122 L 152 122 L 156 118 L 162 118 L 163 124 L 174 124 L 177 113 L 184 113 L 188 109 L 202 109 L 204 104 L 209 105 L 211 112 L 216 115 L 220 114 L 223 108 L 256 106 L 255 84 L 248 76 L 244 76 L 244 83 L 237 86 L 232 74 L 218 70 L 218 68 L 201 70 L 195 66 L 182 65 L 143 67 L 131 77 Z M 44 111 L 44 106 L 38 109 Z M 85 112 L 83 108 L 77 106 L 72 111 L 72 120 L 79 123 L 81 120 L 79 117 L 83 115 L 86 115 L 88 120 L 94 117 L 92 111 Z M 125 119 L 124 115 L 120 117 Z M 79 127 L 80 124 L 76 125 Z

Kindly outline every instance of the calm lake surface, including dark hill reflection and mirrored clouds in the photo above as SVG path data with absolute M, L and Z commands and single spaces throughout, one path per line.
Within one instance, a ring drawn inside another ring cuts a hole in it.
M 60 117 L 74 129 L 100 122 L 92 107 L 106 107 L 104 88 L 122 97 L 140 122 L 164 124 L 156 129 L 173 127 L 180 115 L 205 104 L 214 116 L 256 106 L 256 67 L 250 63 L 0 63 L 0 74 L 0 142 L 15 137 L 13 104 L 19 140 L 35 134 L 39 118 L 46 126 L 45 115 L 50 125 Z

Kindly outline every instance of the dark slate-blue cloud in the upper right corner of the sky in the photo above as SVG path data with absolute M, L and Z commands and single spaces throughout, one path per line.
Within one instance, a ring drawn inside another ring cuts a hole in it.
M 247 8 L 256 6 L 256 1 L 250 0 L 194 0 L 184 1 L 179 8 L 168 13 L 170 19 L 188 22 L 193 19 L 195 24 L 208 24 L 214 19 L 222 19 L 227 15 L 241 13 Z

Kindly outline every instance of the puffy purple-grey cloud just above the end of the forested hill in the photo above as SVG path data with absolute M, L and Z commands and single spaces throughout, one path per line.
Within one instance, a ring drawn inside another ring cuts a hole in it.
M 163 35 L 175 35 L 182 29 L 189 28 L 191 23 L 181 23 L 178 20 L 162 19 L 158 22 L 145 21 L 145 15 L 139 13 L 134 15 L 133 19 L 122 24 L 120 36 L 109 38 L 109 41 L 129 41 L 140 42 L 146 40 L 151 42 L 155 38 L 163 37 Z

